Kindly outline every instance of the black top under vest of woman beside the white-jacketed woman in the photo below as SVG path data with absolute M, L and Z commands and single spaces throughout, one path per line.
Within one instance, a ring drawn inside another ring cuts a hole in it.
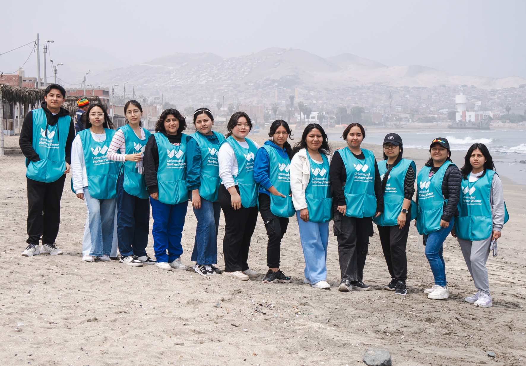
M 347 149 L 347 148 L 346 148 Z M 359 155 L 355 155 L 356 159 L 365 160 L 363 152 Z M 343 206 L 346 205 L 345 194 L 343 194 L 343 186 L 347 181 L 347 170 L 345 164 L 341 159 L 341 155 L 338 150 L 332 156 L 329 169 L 330 184 L 332 186 L 332 205 Z M 380 180 L 380 172 L 378 171 L 378 163 L 375 158 L 375 195 L 376 195 L 376 212 L 383 212 L 383 192 L 382 192 L 382 181 Z

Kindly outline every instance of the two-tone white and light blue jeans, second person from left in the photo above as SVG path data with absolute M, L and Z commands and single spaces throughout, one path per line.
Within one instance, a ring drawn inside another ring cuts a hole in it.
M 89 195 L 88 187 L 84 187 L 84 202 L 88 208 L 82 252 L 84 255 L 102 257 L 112 254 L 115 228 L 115 206 L 117 200 L 97 200 Z

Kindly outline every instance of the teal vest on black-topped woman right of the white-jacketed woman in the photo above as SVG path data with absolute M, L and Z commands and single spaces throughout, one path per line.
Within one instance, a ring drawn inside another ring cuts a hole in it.
M 348 147 L 337 151 L 347 171 L 343 194 L 347 205 L 345 215 L 349 217 L 372 217 L 376 213 L 375 155 L 361 150 L 365 160 L 356 159 Z

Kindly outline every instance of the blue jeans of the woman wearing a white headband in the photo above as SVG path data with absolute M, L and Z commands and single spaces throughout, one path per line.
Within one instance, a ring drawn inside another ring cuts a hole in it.
M 217 231 L 221 206 L 219 201 L 210 202 L 201 197 L 201 208 L 194 208 L 197 218 L 194 251 L 191 260 L 198 265 L 217 263 Z

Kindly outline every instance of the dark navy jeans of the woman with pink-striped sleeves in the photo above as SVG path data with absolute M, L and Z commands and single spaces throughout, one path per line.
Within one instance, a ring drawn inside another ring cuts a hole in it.
M 148 198 L 139 198 L 124 190 L 124 174 L 117 180 L 117 238 L 122 257 L 146 255 L 150 231 Z

